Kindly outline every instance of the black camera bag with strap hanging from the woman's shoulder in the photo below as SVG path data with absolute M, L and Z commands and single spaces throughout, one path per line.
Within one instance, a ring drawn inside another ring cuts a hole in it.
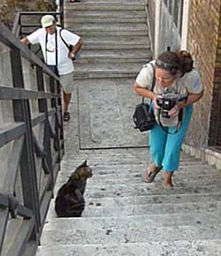
M 152 63 L 149 63 L 154 71 L 152 88 L 153 91 L 155 86 L 155 67 Z M 147 131 L 154 127 L 156 124 L 154 112 L 150 109 L 148 103 L 144 103 L 144 97 L 142 97 L 142 102 L 139 105 L 136 105 L 135 112 L 133 113 L 133 122 L 135 124 L 134 128 L 139 128 L 141 132 Z

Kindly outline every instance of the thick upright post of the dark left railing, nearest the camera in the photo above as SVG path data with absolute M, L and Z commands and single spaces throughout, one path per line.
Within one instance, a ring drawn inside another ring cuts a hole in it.
M 24 79 L 19 50 L 11 50 L 11 71 L 14 88 L 24 88 Z M 23 121 L 26 124 L 25 143 L 20 159 L 20 173 L 23 189 L 24 205 L 34 212 L 34 240 L 37 240 L 37 232 L 41 226 L 39 196 L 34 162 L 34 144 L 32 136 L 31 113 L 28 99 L 13 100 L 13 112 L 15 121 Z

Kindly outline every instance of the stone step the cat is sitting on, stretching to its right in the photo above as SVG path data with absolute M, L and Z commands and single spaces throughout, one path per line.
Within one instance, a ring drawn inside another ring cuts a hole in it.
M 193 196 L 194 197 L 194 196 Z M 94 204 L 93 199 L 86 200 L 87 206 L 82 213 L 82 217 L 91 218 L 91 217 L 118 217 L 118 216 L 131 216 L 131 215 L 143 215 L 143 214 L 167 214 L 167 213 L 218 213 L 221 210 L 221 201 L 217 199 L 211 199 L 209 202 L 200 201 L 200 202 L 181 202 L 181 203 L 163 203 L 160 204 L 148 204 L 139 205 L 131 204 L 126 205 L 118 204 L 118 201 L 113 204 L 102 204 L 97 202 Z M 50 207 L 50 214 L 55 215 L 54 207 Z M 107 201 L 110 203 L 110 201 Z

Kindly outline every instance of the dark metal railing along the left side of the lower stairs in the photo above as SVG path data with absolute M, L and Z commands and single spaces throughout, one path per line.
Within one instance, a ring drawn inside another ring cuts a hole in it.
M 1 22 L 0 72 L 0 255 L 33 256 L 64 155 L 60 85 Z

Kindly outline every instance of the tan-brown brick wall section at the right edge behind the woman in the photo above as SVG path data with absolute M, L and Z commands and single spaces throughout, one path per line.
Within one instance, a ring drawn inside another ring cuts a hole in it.
M 220 8 L 220 0 L 191 1 L 187 49 L 194 57 L 194 66 L 202 76 L 204 96 L 194 105 L 194 115 L 185 142 L 196 147 L 216 144 L 221 110 Z

